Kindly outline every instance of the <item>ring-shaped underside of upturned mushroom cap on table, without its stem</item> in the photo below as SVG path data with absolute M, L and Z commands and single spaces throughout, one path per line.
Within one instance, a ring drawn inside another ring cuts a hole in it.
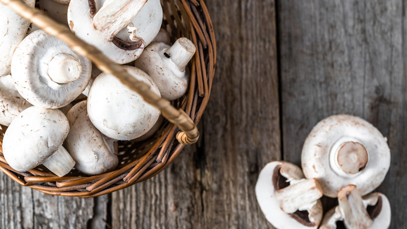
M 361 172 L 341 174 L 333 169 L 331 151 L 344 138 L 357 139 L 365 146 L 368 162 Z M 365 195 L 383 182 L 390 166 L 390 149 L 387 139 L 368 121 L 338 114 L 323 119 L 311 130 L 302 148 L 301 162 L 305 177 L 316 178 L 325 196 L 335 198 L 341 187 L 349 184 Z

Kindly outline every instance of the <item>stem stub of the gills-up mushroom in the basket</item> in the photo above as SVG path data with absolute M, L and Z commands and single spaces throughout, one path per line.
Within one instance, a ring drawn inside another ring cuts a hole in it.
M 81 77 L 82 65 L 73 55 L 58 53 L 48 63 L 47 72 L 55 83 L 66 84 Z

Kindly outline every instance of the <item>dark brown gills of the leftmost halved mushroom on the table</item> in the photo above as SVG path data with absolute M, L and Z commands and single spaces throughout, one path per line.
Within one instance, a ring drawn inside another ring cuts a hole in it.
M 289 182 L 287 182 L 287 178 L 281 175 L 280 170 L 281 170 L 281 165 L 278 165 L 274 169 L 273 173 L 273 185 L 274 189 L 277 191 L 279 189 L 283 189 L 285 187 L 288 187 L 290 185 Z M 315 226 L 315 222 L 311 222 L 308 217 L 308 211 L 300 211 L 297 210 L 292 214 L 289 214 L 292 218 L 300 222 L 301 224 L 307 226 L 307 227 L 313 227 Z

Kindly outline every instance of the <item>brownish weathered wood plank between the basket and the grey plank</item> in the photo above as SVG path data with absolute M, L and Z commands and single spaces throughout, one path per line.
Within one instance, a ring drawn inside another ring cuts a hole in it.
M 201 140 L 158 176 L 112 194 L 112 228 L 271 228 L 254 194 L 280 159 L 274 0 L 207 0 L 218 59 Z

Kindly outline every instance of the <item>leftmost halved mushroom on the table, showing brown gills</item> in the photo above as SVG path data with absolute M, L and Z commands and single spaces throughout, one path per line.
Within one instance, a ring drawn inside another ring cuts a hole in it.
M 273 161 L 260 172 L 256 197 L 266 219 L 277 229 L 316 229 L 322 219 L 322 189 L 305 179 L 301 169 Z

